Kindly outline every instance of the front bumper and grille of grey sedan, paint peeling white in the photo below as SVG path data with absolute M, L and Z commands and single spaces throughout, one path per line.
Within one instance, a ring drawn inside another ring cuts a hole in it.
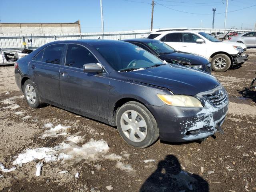
M 184 142 L 207 138 L 220 130 L 228 111 L 228 96 L 222 86 L 197 94 L 203 108 L 147 106 L 158 123 L 160 140 Z

